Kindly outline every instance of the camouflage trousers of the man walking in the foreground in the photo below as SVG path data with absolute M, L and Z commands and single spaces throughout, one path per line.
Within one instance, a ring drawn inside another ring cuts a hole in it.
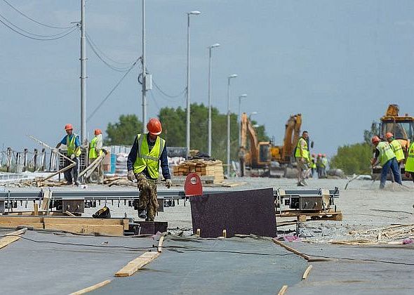
M 145 221 L 154 221 L 158 211 L 158 201 L 156 200 L 156 180 L 148 179 L 142 173 L 136 173 L 138 190 L 140 190 L 140 200 L 138 202 L 138 216 L 146 215 Z M 144 213 L 144 214 L 143 214 Z

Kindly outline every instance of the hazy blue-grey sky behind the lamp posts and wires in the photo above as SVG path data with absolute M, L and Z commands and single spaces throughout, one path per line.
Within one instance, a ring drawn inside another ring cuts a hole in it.
M 8 0 L 30 17 L 66 26 L 80 20 L 80 0 Z M 114 60 L 130 62 L 141 52 L 141 1 L 86 1 L 86 30 Z M 360 142 L 363 129 L 389 103 L 414 113 L 414 1 L 147 0 L 147 68 L 171 95 L 185 87 L 187 11 L 198 10 L 192 28 L 192 101 L 207 103 L 208 50 L 213 51 L 213 105 L 258 112 L 276 143 L 290 114 L 302 113 L 302 130 L 315 152 L 335 154 L 339 145 Z M 36 25 L 0 0 L 0 13 L 29 32 L 56 34 Z M 0 144 L 34 147 L 32 134 L 51 145 L 71 122 L 80 133 L 80 31 L 56 41 L 26 39 L 0 23 Z M 123 73 L 105 66 L 87 47 L 87 114 Z M 119 114 L 141 117 L 135 68 L 88 122 L 105 129 Z M 149 94 L 149 116 L 159 107 L 185 106 L 185 96 Z

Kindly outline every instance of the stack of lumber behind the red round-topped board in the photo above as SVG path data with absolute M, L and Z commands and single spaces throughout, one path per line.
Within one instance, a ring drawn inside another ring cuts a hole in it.
M 225 180 L 223 163 L 220 160 L 192 159 L 174 167 L 174 176 L 186 176 L 188 173 L 197 173 L 199 176 L 213 176 L 215 183 Z

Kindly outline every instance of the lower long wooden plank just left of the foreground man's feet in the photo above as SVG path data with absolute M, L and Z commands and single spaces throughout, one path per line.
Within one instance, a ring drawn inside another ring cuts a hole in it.
M 75 234 L 89 235 L 110 235 L 123 236 L 123 225 L 82 225 L 82 224 L 46 224 L 46 230 L 62 230 L 64 232 L 72 232 Z

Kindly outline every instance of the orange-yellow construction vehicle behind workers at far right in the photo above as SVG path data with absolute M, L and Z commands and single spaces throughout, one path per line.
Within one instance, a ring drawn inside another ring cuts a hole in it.
M 407 149 L 410 143 L 414 140 L 414 117 L 399 115 L 398 105 L 389 105 L 385 116 L 381 117 L 380 123 L 373 123 L 373 130 L 378 131 L 378 136 L 385 140 L 385 133 L 391 132 L 394 134 L 394 138 L 399 140 L 401 147 L 403 147 L 404 155 L 406 155 Z M 401 176 L 404 178 L 404 164 L 401 164 Z M 381 173 L 381 166 L 373 167 L 373 179 L 379 178 Z

